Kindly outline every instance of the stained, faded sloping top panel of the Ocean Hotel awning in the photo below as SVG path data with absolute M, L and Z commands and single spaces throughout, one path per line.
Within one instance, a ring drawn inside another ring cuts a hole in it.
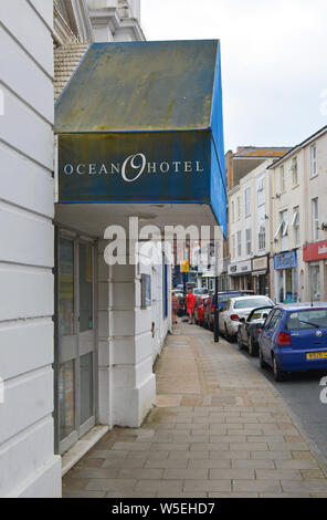
M 211 126 L 218 40 L 93 43 L 56 103 L 55 132 Z

